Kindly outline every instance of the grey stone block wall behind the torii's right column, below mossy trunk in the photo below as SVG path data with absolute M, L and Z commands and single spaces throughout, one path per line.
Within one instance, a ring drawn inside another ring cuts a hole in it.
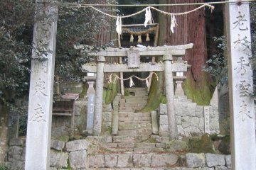
M 197 106 L 186 96 L 174 96 L 176 122 L 179 137 L 203 135 L 205 133 L 204 106 Z M 166 104 L 159 106 L 159 135 L 168 136 Z M 218 106 L 209 106 L 210 134 L 219 133 Z

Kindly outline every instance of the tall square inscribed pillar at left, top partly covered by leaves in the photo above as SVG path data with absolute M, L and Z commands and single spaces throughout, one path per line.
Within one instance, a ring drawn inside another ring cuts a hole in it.
M 26 170 L 50 169 L 50 132 L 58 8 L 36 1 L 26 135 Z

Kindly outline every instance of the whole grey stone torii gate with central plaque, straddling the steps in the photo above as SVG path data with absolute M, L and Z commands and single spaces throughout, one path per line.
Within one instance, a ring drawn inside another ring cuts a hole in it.
M 93 135 L 99 136 L 102 125 L 102 95 L 104 72 L 164 72 L 167 115 L 169 123 L 169 138 L 176 139 L 177 125 L 174 111 L 174 81 L 173 72 L 186 72 L 186 62 L 173 62 L 173 56 L 182 57 L 193 44 L 166 47 L 132 47 L 132 48 L 107 48 L 107 50 L 93 53 L 97 56 L 96 63 L 87 63 L 82 66 L 84 72 L 97 73 L 95 94 L 95 116 Z M 128 64 L 105 64 L 105 57 L 128 57 Z M 163 57 L 163 62 L 140 63 L 140 57 Z

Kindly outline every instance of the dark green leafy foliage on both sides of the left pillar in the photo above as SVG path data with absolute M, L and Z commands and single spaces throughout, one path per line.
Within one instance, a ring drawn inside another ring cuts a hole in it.
M 98 50 L 96 35 L 110 22 L 90 8 L 71 8 L 58 3 L 58 33 L 56 44 L 55 75 L 60 80 L 80 81 L 81 64 L 87 62 L 87 53 Z M 92 1 L 79 1 L 91 3 Z M 114 3 L 113 0 L 106 3 Z M 29 68 L 33 40 L 34 0 L 0 1 L 0 103 L 10 104 L 11 99 L 28 93 Z M 110 12 L 110 9 L 103 9 Z M 87 44 L 90 46 L 76 45 Z M 108 43 L 107 45 L 110 45 Z

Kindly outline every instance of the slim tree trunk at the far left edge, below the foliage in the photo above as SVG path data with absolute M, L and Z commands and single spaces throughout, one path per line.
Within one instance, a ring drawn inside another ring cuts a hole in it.
M 8 142 L 9 107 L 0 105 L 0 163 L 4 162 Z

